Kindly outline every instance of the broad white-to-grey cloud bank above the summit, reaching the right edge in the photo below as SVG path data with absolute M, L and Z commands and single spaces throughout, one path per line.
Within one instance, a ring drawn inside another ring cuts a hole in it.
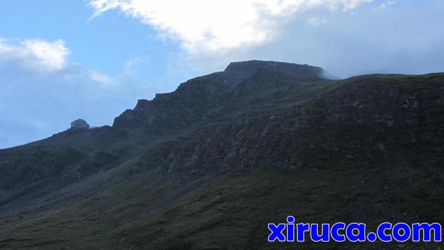
M 90 0 L 178 41 L 178 67 L 196 75 L 236 60 L 324 67 L 342 78 L 443 71 L 442 1 L 414 0 Z

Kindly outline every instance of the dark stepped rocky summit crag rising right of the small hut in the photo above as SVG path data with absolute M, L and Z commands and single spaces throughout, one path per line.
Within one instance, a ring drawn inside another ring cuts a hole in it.
M 139 100 L 133 110 L 114 119 L 114 127 L 144 123 L 178 129 L 198 122 L 203 114 L 226 105 L 232 95 L 284 88 L 302 81 L 323 79 L 323 69 L 309 65 L 264 61 L 230 63 L 223 72 L 200 76 L 179 85 L 175 92 Z

